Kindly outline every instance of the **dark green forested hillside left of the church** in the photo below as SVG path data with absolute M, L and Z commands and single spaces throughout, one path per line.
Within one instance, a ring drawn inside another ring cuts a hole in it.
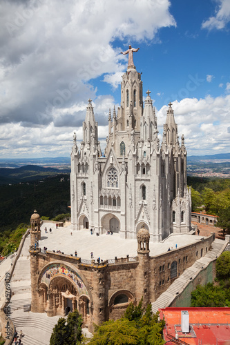
M 69 175 L 47 177 L 41 181 L 0 186 L 0 233 L 21 223 L 30 224 L 36 209 L 40 216 L 69 213 Z

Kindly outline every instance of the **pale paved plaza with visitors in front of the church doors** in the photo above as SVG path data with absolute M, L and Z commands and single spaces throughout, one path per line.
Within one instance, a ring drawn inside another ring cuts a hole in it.
M 48 233 L 45 233 L 45 227 Z M 52 228 L 52 233 L 49 231 L 50 228 Z M 198 235 L 171 234 L 163 242 L 150 242 L 150 255 L 160 255 L 169 248 L 173 247 L 173 250 L 175 250 L 176 244 L 178 248 L 181 248 L 182 246 L 198 242 L 200 239 L 201 236 Z M 99 236 L 94 233 L 91 235 L 88 229 L 73 231 L 71 225 L 56 229 L 55 224 L 46 221 L 41 226 L 39 246 L 41 249 L 46 247 L 48 250 L 61 250 L 61 252 L 67 255 L 75 255 L 75 250 L 77 250 L 77 256 L 82 257 L 82 259 L 91 259 L 91 252 L 93 252 L 94 259 L 101 257 L 104 260 L 114 259 L 114 257 L 126 257 L 126 255 L 130 257 L 137 256 L 137 239 L 122 239 L 118 233 Z

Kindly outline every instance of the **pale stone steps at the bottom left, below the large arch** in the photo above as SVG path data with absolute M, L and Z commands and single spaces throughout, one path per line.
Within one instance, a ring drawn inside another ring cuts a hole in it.
M 25 316 L 12 317 L 12 322 L 19 333 L 22 330 L 23 345 L 49 345 L 52 328 L 58 317 L 47 317 L 44 314 L 26 313 Z M 32 336 L 33 335 L 33 336 Z

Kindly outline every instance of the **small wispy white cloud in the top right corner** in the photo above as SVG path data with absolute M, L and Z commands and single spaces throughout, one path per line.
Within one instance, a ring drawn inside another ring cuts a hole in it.
M 224 29 L 230 21 L 230 2 L 229 0 L 215 0 L 218 8 L 215 9 L 215 16 L 210 17 L 202 23 L 202 29 Z

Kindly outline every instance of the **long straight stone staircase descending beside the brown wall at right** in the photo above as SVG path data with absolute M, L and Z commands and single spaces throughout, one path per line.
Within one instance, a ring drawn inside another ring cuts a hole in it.
M 184 270 L 182 275 L 175 279 L 173 284 L 171 284 L 171 286 L 169 286 L 169 288 L 152 303 L 153 313 L 157 313 L 160 308 L 166 308 L 166 306 L 169 306 L 175 296 L 178 295 L 187 284 L 189 284 L 193 277 L 198 275 L 202 268 L 206 267 L 210 262 L 220 256 L 225 245 L 226 242 L 221 239 L 215 239 L 207 254 L 194 262 L 191 267 Z

